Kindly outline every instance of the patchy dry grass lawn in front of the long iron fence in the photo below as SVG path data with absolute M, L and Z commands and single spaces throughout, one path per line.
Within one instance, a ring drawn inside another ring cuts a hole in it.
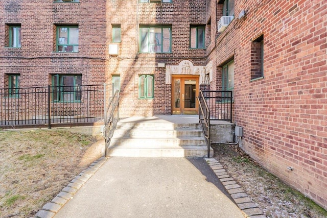
M 96 138 L 63 130 L 0 129 L 0 217 L 30 217 L 94 161 Z

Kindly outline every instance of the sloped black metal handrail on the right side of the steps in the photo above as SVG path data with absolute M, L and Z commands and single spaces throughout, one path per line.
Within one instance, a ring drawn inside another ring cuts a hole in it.
M 200 95 L 197 97 L 199 102 L 199 123 L 202 128 L 202 132 L 204 135 L 205 143 L 208 149 L 207 157 L 210 157 L 210 110 L 204 99 L 203 92 L 200 90 Z

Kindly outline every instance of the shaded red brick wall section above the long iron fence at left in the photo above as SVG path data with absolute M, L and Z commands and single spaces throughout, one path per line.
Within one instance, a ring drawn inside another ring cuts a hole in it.
M 1 1 L 0 88 L 5 74 L 20 74 L 21 87 L 48 86 L 52 74 L 81 74 L 83 85 L 104 83 L 105 2 Z M 8 47 L 10 24 L 21 25 L 21 48 Z M 56 25 L 78 25 L 78 53 L 55 52 Z

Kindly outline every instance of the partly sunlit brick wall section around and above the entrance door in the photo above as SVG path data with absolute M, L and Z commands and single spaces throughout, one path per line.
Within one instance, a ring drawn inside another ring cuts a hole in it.
M 205 65 L 205 50 L 191 50 L 190 25 L 206 24 L 206 1 L 174 1 L 149 4 L 138 1 L 107 1 L 107 27 L 121 24 L 122 41 L 119 55 L 108 61 L 107 76 L 121 76 L 121 116 L 149 116 L 171 114 L 171 85 L 165 84 L 165 68 L 158 63 L 178 65 L 190 60 L 194 65 Z M 128 13 L 128 16 L 117 16 Z M 139 54 L 139 25 L 171 25 L 171 54 Z M 109 32 L 110 35 L 110 32 Z M 111 38 L 111 35 L 109 39 Z M 154 99 L 138 99 L 138 76 L 151 74 L 155 78 Z M 111 82 L 111 81 L 107 81 Z

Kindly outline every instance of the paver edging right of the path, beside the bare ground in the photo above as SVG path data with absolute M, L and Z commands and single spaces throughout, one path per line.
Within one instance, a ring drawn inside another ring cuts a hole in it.
M 205 161 L 212 168 L 225 189 L 248 218 L 266 218 L 263 211 L 248 197 L 247 193 L 237 182 L 227 174 L 222 164 L 215 158 L 205 158 Z

